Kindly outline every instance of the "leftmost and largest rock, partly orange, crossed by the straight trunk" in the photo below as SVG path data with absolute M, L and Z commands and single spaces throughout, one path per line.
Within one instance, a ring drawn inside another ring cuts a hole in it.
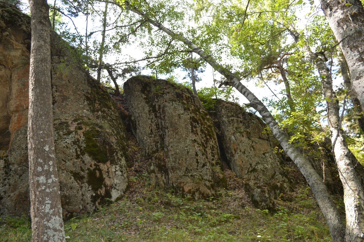
M 1 8 L 1 6 L 0 6 Z M 28 75 L 30 19 L 0 15 L 0 216 L 29 213 Z M 127 188 L 126 133 L 110 95 L 51 34 L 55 150 L 63 213 L 72 217 Z

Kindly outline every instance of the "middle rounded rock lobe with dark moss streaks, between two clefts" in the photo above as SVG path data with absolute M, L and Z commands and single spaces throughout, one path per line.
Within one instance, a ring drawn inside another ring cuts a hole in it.
M 130 78 L 124 93 L 155 183 L 195 199 L 216 196 L 226 181 L 212 120 L 198 98 L 182 85 L 145 76 Z

